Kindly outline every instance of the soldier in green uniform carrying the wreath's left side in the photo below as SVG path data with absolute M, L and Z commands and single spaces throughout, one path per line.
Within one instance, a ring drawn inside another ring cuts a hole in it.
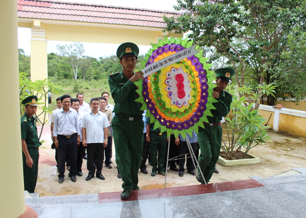
M 139 190 L 138 170 L 142 160 L 144 111 L 140 110 L 141 103 L 135 102 L 139 96 L 136 92 L 138 87 L 133 82 L 144 77 L 141 71 L 134 73 L 138 53 L 139 48 L 134 43 L 121 44 L 117 49 L 117 57 L 123 69 L 108 78 L 115 102 L 112 128 L 116 163 L 123 180 L 123 199 L 128 198 L 132 190 Z

